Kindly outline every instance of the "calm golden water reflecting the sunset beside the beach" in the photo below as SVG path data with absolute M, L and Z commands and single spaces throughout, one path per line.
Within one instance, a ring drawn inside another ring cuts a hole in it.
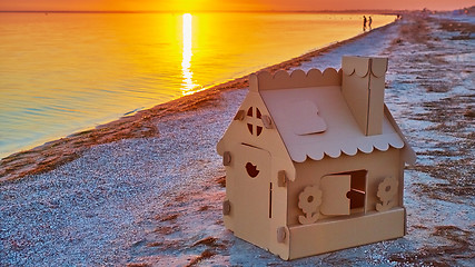
M 362 16 L 0 13 L 0 158 L 348 39 Z

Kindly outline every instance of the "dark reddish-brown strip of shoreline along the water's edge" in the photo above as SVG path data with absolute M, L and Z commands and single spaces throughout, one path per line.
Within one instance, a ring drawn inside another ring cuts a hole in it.
M 289 70 L 321 53 L 354 42 L 366 37 L 370 32 L 380 31 L 394 26 L 394 23 L 395 22 L 390 22 L 344 41 L 336 41 L 326 47 L 316 48 L 313 51 L 263 68 L 256 72 L 268 71 L 274 73 L 277 70 Z M 92 129 L 73 132 L 67 137 L 44 142 L 31 149 L 13 152 L 0 159 L 0 182 L 52 170 L 79 158 L 87 149 L 93 146 L 113 142 L 120 139 L 158 137 L 159 129 L 157 129 L 156 125 L 159 119 L 209 105 L 219 98 L 220 92 L 246 88 L 248 87 L 248 78 L 250 75 L 251 73 L 248 73 L 227 82 L 211 86 L 208 89 L 190 96 L 184 96 L 168 102 L 159 103 L 152 108 L 140 110 L 131 116 L 125 116 L 117 120 L 99 125 Z

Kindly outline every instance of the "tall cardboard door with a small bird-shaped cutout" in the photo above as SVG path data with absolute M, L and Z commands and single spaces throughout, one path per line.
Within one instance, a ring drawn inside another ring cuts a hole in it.
M 235 194 L 232 202 L 235 235 L 267 248 L 270 215 L 270 155 L 268 151 L 240 145 L 237 149 Z

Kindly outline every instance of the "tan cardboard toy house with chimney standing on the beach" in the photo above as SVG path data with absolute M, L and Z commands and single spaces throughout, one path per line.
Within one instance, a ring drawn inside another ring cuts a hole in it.
M 384 103 L 386 70 L 344 57 L 339 71 L 253 75 L 217 146 L 226 227 L 283 259 L 404 236 L 415 154 Z

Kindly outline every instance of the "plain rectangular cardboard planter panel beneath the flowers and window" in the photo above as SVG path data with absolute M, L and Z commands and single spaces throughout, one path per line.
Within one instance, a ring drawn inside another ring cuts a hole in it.
M 406 227 L 405 217 L 404 208 L 395 208 L 337 221 L 291 226 L 288 259 L 403 237 Z

